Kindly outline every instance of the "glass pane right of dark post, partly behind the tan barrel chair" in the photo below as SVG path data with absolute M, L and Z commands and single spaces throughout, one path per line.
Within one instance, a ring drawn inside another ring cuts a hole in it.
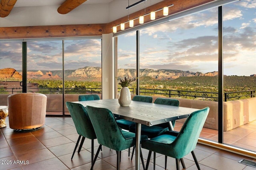
M 27 92 L 46 94 L 47 115 L 62 115 L 62 41 L 27 42 Z

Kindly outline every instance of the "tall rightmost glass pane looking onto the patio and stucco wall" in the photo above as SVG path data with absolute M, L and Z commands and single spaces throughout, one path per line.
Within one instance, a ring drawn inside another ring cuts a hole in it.
M 256 151 L 255 0 L 223 8 L 224 143 Z

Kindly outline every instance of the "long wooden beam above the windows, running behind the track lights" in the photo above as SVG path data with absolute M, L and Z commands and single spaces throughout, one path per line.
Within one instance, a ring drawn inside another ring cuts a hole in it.
M 158 10 L 170 4 L 174 4 L 174 6 L 169 8 L 169 15 L 172 15 L 212 1 L 214 0 L 164 0 L 146 8 L 146 13 Z M 136 18 L 140 15 L 144 15 L 144 9 L 130 14 L 129 18 Z M 160 19 L 162 17 L 164 17 L 162 14 L 156 14 L 156 19 Z M 111 27 L 119 25 L 122 22 L 126 22 L 127 20 L 128 16 L 122 17 L 110 23 L 102 24 L 0 27 L 0 39 L 96 36 L 112 33 Z M 144 18 L 144 23 L 149 21 L 151 20 L 148 16 Z M 134 26 L 136 26 L 136 24 L 134 24 Z M 126 24 L 126 29 L 127 28 L 128 25 Z

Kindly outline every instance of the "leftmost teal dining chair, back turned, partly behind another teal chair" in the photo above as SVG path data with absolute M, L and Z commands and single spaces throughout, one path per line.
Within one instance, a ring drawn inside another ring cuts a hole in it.
M 76 152 L 76 148 L 82 136 L 84 139 L 88 138 L 88 139 L 91 139 L 92 141 L 92 161 L 93 161 L 93 158 L 94 158 L 93 148 L 94 148 L 94 139 L 96 139 L 96 134 L 94 132 L 88 113 L 85 107 L 82 106 L 82 104 L 66 102 L 66 106 L 68 107 L 68 111 L 70 112 L 70 115 L 76 127 L 76 131 L 79 135 L 71 159 L 73 158 L 74 153 Z M 78 153 L 80 152 L 82 145 L 83 143 L 81 141 L 80 147 L 78 149 Z

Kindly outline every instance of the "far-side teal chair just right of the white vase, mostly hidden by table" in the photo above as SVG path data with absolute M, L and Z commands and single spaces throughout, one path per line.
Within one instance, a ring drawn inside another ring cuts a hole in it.
M 138 102 L 148 102 L 148 103 L 152 103 L 152 100 L 153 98 L 151 96 L 134 96 L 132 98 L 132 101 L 138 101 Z M 134 126 L 136 125 L 135 122 L 133 121 L 128 121 L 128 120 L 125 120 L 125 119 L 117 119 L 116 120 L 116 123 L 118 124 L 118 126 L 122 129 L 125 129 L 125 130 L 130 130 L 130 127 L 131 126 Z

